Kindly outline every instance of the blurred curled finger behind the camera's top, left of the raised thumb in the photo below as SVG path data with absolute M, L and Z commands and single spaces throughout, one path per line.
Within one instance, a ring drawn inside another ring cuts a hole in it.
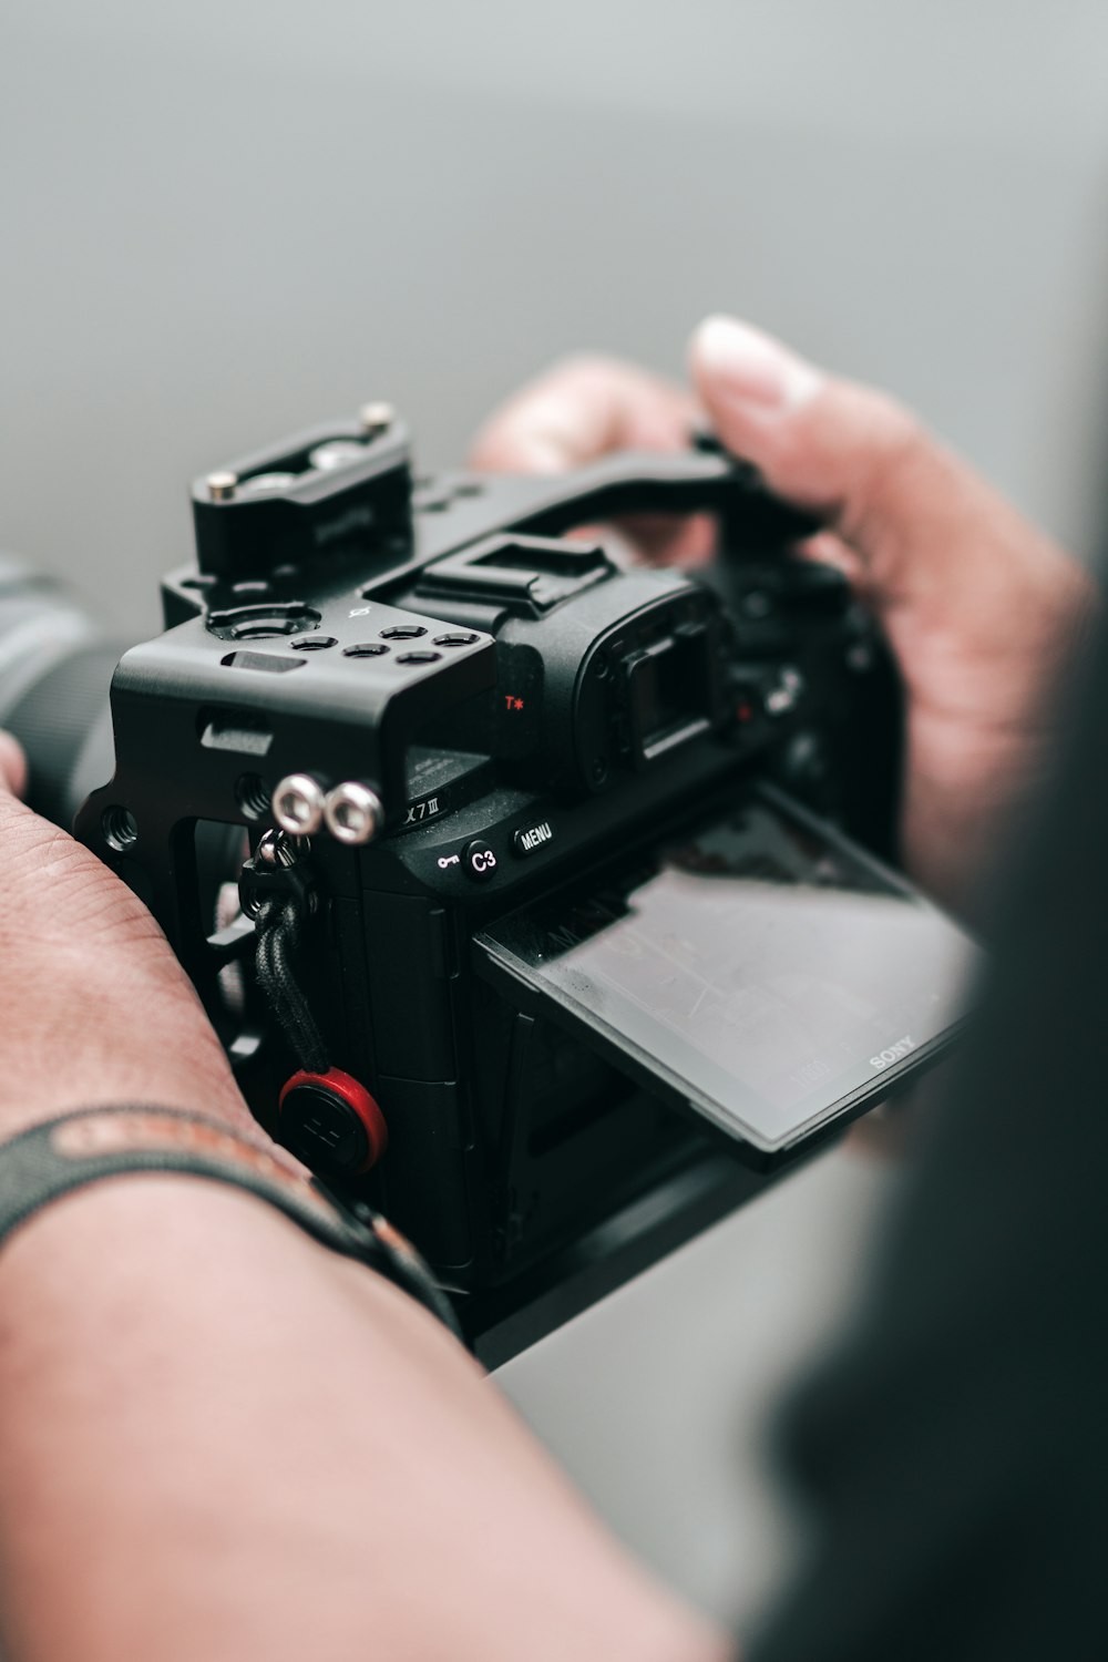
M 470 465 L 490 474 L 560 474 L 611 450 L 678 450 L 694 419 L 689 394 L 656 376 L 613 357 L 571 357 L 490 417 Z

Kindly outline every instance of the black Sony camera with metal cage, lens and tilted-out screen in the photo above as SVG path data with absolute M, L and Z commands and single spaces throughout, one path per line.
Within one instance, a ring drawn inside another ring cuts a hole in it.
M 947 1044 L 965 942 L 857 846 L 895 818 L 889 653 L 749 467 L 704 439 L 424 480 L 369 406 L 193 507 L 118 668 L 0 568 L 0 630 L 40 625 L 7 681 L 0 633 L 0 721 L 262 1125 L 414 1240 L 487 1360 Z M 596 527 L 636 515 L 699 515 L 713 560 L 620 563 Z

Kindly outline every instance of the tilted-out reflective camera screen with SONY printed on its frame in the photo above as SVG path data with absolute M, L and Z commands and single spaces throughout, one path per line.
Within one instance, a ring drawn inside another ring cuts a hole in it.
M 478 944 L 764 1152 L 930 1060 L 977 962 L 949 917 L 769 789 Z

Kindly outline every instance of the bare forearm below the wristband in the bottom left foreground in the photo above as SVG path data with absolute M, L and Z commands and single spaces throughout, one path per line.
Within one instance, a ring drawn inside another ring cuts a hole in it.
M 728 1654 L 430 1316 L 171 1177 L 0 1253 L 0 1612 L 10 1662 Z

